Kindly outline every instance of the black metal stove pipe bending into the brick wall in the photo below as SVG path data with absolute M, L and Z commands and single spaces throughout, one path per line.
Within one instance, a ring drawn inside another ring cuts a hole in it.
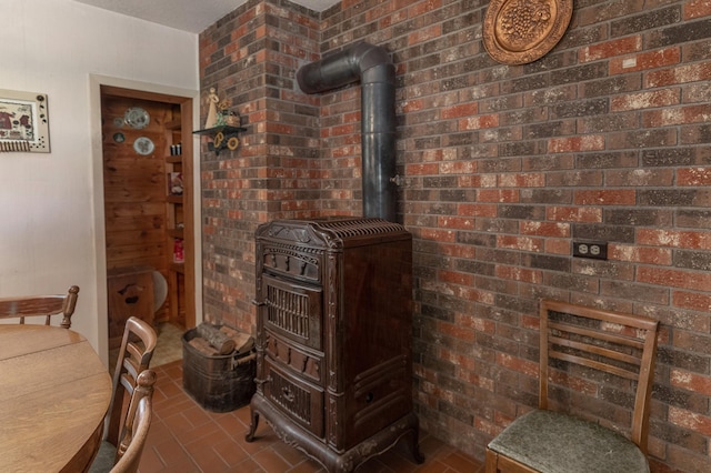
M 360 79 L 363 217 L 395 221 L 395 67 L 384 49 L 359 42 L 297 72 L 306 93 Z

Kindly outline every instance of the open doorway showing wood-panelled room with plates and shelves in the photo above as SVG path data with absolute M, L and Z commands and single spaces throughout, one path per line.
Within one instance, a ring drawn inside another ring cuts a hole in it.
M 109 348 L 137 315 L 196 325 L 191 98 L 101 85 Z

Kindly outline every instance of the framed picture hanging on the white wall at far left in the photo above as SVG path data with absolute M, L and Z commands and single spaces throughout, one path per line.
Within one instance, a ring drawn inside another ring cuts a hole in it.
M 0 152 L 49 153 L 46 93 L 0 89 Z

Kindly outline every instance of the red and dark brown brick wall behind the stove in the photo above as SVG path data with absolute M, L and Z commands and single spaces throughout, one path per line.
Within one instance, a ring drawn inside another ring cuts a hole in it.
M 662 322 L 652 467 L 709 471 L 711 2 L 578 0 L 553 51 L 515 67 L 483 49 L 488 4 L 252 1 L 201 34 L 203 89 L 249 122 L 238 152 L 203 152 L 206 313 L 253 326 L 258 223 L 359 214 L 359 85 L 304 95 L 294 74 L 367 40 L 398 71 L 423 427 L 482 459 L 535 403 L 537 301 L 555 298 Z

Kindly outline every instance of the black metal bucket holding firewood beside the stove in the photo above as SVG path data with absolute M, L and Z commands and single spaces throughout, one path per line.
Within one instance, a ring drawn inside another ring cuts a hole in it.
M 189 342 L 196 329 L 182 335 L 182 386 L 201 406 L 213 412 L 246 405 L 256 391 L 257 356 L 248 353 L 209 356 Z

